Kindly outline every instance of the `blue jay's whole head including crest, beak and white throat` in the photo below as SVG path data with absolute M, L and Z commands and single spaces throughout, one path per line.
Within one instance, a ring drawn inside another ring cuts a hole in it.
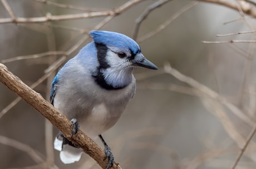
M 92 30 L 90 35 L 97 49 L 99 62 L 96 78 L 103 79 L 111 88 L 123 88 L 132 79 L 136 66 L 157 69 L 141 53 L 139 45 L 124 34 Z

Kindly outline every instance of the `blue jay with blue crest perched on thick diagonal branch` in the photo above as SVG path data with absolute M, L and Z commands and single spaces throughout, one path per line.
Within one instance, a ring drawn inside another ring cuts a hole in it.
M 119 120 L 135 93 L 132 70 L 136 66 L 157 69 L 141 53 L 139 45 L 124 34 L 92 30 L 93 41 L 70 59 L 53 79 L 51 103 L 73 124 L 73 134 L 80 128 L 86 135 L 100 137 L 105 146 L 107 168 L 114 163 L 102 132 Z M 78 124 L 79 121 L 79 124 Z M 54 147 L 63 163 L 80 160 L 82 150 L 61 133 Z

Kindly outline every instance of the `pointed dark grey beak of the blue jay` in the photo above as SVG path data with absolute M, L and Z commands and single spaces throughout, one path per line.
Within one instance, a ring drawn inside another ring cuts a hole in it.
M 157 66 L 153 63 L 151 63 L 149 60 L 147 60 L 142 53 L 139 53 L 135 56 L 133 60 L 131 60 L 132 65 L 134 66 L 141 66 L 143 68 L 147 69 L 154 69 L 157 70 Z

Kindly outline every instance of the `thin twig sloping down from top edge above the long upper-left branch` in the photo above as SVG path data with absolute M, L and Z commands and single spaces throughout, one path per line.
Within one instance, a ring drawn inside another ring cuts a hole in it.
M 111 10 L 107 8 L 86 8 L 86 7 L 81 7 L 81 6 L 73 6 L 71 4 L 62 4 L 62 3 L 56 3 L 52 1 L 47 1 L 47 0 L 34 0 L 36 2 L 41 2 L 50 6 L 58 7 L 58 8 L 66 8 L 66 9 L 75 9 L 78 11 L 87 11 L 87 12 L 96 12 L 96 11 L 106 11 L 106 10 Z

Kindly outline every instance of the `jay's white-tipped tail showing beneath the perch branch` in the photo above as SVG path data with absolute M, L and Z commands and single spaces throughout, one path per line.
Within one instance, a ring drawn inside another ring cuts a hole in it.
M 60 151 L 61 161 L 65 164 L 79 161 L 82 156 L 81 148 L 77 148 L 71 141 L 61 135 L 55 138 L 54 148 Z

